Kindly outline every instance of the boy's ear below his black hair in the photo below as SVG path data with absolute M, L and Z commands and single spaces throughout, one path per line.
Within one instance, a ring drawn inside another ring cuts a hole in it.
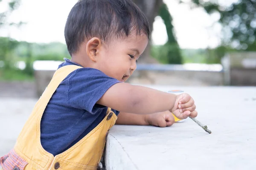
M 86 53 L 93 62 L 97 61 L 97 55 L 99 55 L 102 42 L 99 38 L 93 37 L 86 44 Z

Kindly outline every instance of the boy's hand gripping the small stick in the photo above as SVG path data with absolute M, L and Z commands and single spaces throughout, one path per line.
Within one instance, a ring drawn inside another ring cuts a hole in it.
M 176 96 L 176 101 L 171 112 L 178 119 L 186 119 L 188 116 L 196 117 L 197 111 L 195 110 L 194 99 L 186 93 L 179 94 Z

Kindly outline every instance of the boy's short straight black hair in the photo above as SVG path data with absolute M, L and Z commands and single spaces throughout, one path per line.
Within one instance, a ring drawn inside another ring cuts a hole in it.
M 67 17 L 64 34 L 71 55 L 86 39 L 108 42 L 128 37 L 132 31 L 150 36 L 147 18 L 131 0 L 79 0 Z

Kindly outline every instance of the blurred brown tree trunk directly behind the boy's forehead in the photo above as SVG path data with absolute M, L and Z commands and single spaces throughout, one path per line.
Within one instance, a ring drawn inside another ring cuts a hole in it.
M 163 4 L 163 0 L 133 0 L 134 3 L 143 11 L 148 18 L 149 27 L 152 32 L 154 18 L 158 15 L 159 8 Z M 153 59 L 150 55 L 151 42 L 148 43 L 143 55 L 140 57 L 140 63 L 155 63 L 156 59 Z

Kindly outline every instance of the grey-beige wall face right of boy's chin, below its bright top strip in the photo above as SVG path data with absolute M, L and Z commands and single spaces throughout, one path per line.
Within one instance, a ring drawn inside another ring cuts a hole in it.
M 128 79 L 133 84 L 212 86 L 224 85 L 222 71 L 137 70 Z

